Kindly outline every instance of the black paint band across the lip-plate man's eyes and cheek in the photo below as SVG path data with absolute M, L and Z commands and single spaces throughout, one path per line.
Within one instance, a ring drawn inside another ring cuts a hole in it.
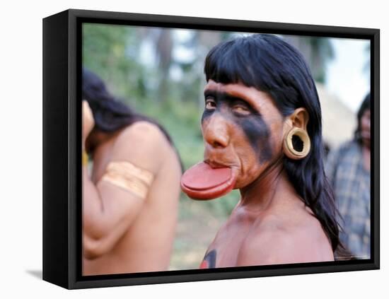
M 206 90 L 204 93 L 207 100 L 211 97 L 216 102 L 216 109 L 209 110 L 204 109 L 202 114 L 202 123 L 211 117 L 214 113 L 221 112 L 221 107 L 228 107 L 228 111 L 232 111 L 231 108 L 234 105 L 234 101 L 245 102 L 240 98 L 232 97 L 226 93 L 219 93 L 213 90 Z M 248 138 L 250 146 L 258 154 L 260 163 L 265 163 L 272 158 L 272 146 L 269 143 L 270 131 L 259 112 L 253 109 L 247 102 L 245 107 L 250 110 L 249 115 L 239 115 L 238 113 L 229 112 L 223 113 L 228 119 L 232 119 L 239 127 L 242 128 L 245 136 Z

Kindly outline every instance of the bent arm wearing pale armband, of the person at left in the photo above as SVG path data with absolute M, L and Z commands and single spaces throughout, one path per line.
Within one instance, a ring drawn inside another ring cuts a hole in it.
M 158 135 L 161 133 L 149 124 L 134 124 L 125 129 L 112 151 L 112 163 L 119 166 L 108 169 L 97 184 L 93 184 L 83 167 L 83 254 L 87 259 L 110 252 L 139 215 L 146 200 L 146 185 L 139 183 L 137 175 L 131 178 L 133 174 L 123 167 L 133 165 L 136 170 L 155 176 L 161 156 L 154 151 L 160 151 L 163 142 Z

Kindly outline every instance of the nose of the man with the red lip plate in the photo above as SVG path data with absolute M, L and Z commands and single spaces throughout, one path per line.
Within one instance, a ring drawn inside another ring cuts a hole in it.
M 204 140 L 214 148 L 225 148 L 230 141 L 228 122 L 220 114 L 215 113 L 203 127 Z

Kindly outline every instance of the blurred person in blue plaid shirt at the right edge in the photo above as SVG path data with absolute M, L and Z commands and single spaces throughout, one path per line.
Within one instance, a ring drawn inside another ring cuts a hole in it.
M 357 120 L 354 139 L 330 151 L 326 173 L 343 218 L 340 240 L 354 259 L 370 259 L 370 93 Z

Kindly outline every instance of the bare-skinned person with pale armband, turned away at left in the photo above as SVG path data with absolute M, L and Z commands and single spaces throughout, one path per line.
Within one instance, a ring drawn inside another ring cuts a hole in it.
M 98 76 L 83 69 L 82 83 L 83 275 L 166 270 L 178 153 L 161 126 L 116 100 Z

